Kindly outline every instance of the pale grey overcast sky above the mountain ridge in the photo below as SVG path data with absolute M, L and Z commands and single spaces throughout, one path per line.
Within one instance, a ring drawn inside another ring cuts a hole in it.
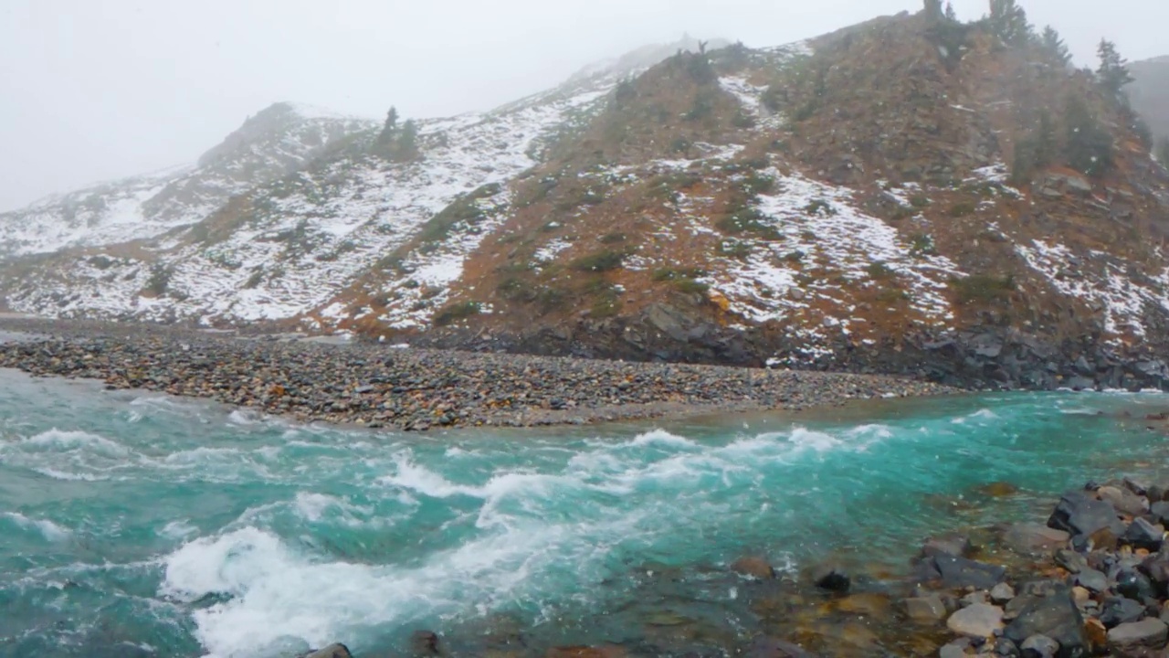
M 975 19 L 985 0 L 955 0 Z M 1167 0 L 1023 0 L 1080 64 L 1169 54 Z M 485 110 L 683 33 L 774 46 L 920 0 L 0 0 L 0 211 L 193 162 L 276 101 Z

